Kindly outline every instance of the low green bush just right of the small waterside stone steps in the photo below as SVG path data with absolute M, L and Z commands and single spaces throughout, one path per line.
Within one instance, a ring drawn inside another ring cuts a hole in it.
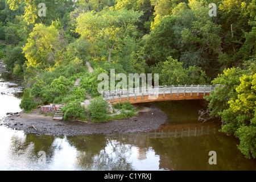
M 76 119 L 81 119 L 82 121 L 87 120 L 86 111 L 84 107 L 81 106 L 79 100 L 68 102 L 68 104 L 61 109 L 61 111 L 65 113 L 63 116 L 64 119 L 71 119 L 71 121 Z

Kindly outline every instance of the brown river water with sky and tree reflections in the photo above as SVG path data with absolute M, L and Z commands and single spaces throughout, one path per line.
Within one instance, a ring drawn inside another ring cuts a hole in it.
M 238 140 L 218 131 L 219 122 L 197 121 L 204 101 L 156 103 L 168 121 L 151 132 L 40 136 L 2 125 L 7 112 L 20 111 L 22 94 L 11 93 L 18 85 L 0 73 L 0 170 L 256 170 Z M 216 164 L 209 164 L 210 151 Z

